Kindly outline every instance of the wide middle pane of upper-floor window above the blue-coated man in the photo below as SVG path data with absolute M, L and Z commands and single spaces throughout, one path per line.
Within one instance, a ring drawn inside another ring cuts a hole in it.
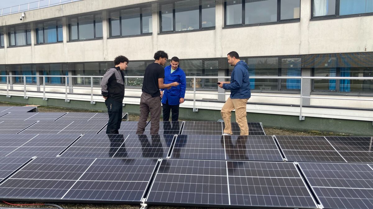
M 199 0 L 175 2 L 175 31 L 200 28 Z

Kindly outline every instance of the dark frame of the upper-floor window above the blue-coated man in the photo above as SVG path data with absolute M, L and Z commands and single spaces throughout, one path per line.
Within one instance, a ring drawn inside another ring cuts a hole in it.
M 176 1 L 177 2 L 177 1 Z M 199 0 L 198 1 L 198 25 L 199 25 L 199 28 L 198 29 L 193 29 L 193 30 L 182 30 L 182 31 L 176 31 L 176 20 L 175 20 L 175 16 L 176 16 L 176 8 L 175 8 L 175 1 L 173 1 L 172 3 L 162 3 L 159 5 L 159 33 L 158 34 L 165 34 L 165 33 L 185 33 L 185 32 L 195 32 L 195 31 L 201 31 L 201 30 L 212 30 L 212 29 L 215 29 L 216 26 L 210 26 L 210 27 L 202 27 L 202 0 Z M 167 30 L 167 31 L 162 31 L 162 6 L 163 5 L 166 5 L 166 4 L 172 4 L 172 30 Z M 216 12 L 216 6 L 214 7 L 215 8 L 215 12 Z M 215 13 L 216 14 L 216 13 Z

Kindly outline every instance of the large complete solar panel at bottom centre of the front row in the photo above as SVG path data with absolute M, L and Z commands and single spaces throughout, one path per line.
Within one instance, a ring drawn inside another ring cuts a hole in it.
M 292 163 L 163 159 L 148 203 L 316 208 Z

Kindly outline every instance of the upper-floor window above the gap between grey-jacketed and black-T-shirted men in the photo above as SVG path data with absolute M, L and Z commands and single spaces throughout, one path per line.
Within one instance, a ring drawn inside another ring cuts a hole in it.
M 153 31 L 151 7 L 112 12 L 109 23 L 110 37 L 151 33 Z

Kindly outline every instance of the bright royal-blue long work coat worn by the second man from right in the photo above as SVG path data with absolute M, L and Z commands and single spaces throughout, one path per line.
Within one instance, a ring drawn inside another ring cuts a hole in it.
M 179 105 L 180 98 L 185 97 L 186 89 L 186 78 L 185 73 L 181 68 L 176 68 L 173 73 L 171 73 L 171 65 L 168 65 L 164 68 L 164 84 L 170 84 L 173 82 L 178 82 L 179 86 L 172 86 L 170 89 L 161 89 L 163 90 L 162 103 L 166 104 L 168 100 L 169 105 Z

